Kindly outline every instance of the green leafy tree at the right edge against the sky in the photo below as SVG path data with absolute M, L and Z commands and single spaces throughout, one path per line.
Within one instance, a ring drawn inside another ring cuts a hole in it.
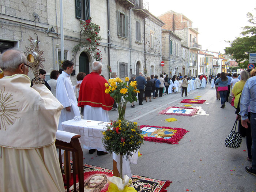
M 256 17 L 249 12 L 247 17 L 251 26 L 243 27 L 244 31 L 241 32 L 243 37 L 228 41 L 231 46 L 225 48 L 225 54 L 231 54 L 240 68 L 247 68 L 249 53 L 256 53 Z

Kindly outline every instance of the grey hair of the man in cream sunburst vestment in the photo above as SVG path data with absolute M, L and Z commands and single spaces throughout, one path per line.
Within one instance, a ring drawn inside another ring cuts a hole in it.
M 8 49 L 0 55 L 0 68 L 3 71 L 15 71 L 22 63 L 27 64 L 27 58 L 19 49 Z

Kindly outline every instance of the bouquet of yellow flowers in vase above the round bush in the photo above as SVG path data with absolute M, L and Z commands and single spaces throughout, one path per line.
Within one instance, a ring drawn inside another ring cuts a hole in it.
M 109 83 L 105 83 L 105 93 L 110 94 L 117 103 L 118 119 L 124 120 L 125 108 L 127 102 L 137 101 L 135 93 L 139 93 L 137 82 L 132 81 L 130 84 L 129 78 L 125 78 L 125 82 L 120 78 L 109 79 Z

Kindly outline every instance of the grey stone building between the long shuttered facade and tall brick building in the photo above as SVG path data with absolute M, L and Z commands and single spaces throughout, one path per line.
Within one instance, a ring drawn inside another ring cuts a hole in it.
M 167 74 L 182 76 L 188 73 L 189 47 L 181 44 L 182 38 L 170 30 L 162 29 L 162 54 Z

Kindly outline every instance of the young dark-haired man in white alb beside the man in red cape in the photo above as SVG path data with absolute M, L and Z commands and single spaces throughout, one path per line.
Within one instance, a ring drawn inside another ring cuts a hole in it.
M 74 63 L 72 61 L 63 62 L 64 71 L 57 79 L 56 98 L 64 106 L 61 110 L 60 121 L 58 130 L 62 131 L 61 123 L 73 119 L 75 116 L 80 116 L 80 111 L 77 106 L 75 89 L 80 87 L 80 84 L 76 86 L 72 85 L 70 74 L 74 69 Z

